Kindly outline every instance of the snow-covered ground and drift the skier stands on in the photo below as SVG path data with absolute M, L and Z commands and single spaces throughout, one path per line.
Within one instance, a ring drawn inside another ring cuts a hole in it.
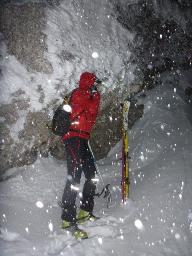
M 105 199 L 95 198 L 94 214 L 101 218 L 79 225 L 89 238 L 76 241 L 61 230 L 57 205 L 66 162 L 39 156 L 32 166 L 9 169 L 11 178 L 0 184 L 1 256 L 192 255 L 191 101 L 171 84 L 147 92 L 142 101 L 144 116 L 129 133 L 126 204 L 121 202 L 119 142 L 99 161 L 112 204 L 107 210 Z

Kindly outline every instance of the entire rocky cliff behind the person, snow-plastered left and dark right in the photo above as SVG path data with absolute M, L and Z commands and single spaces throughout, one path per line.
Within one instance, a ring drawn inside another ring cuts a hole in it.
M 181 72 L 191 72 L 191 7 L 187 0 L 2 1 L 0 172 L 38 155 L 65 159 L 46 124 L 84 71 L 112 85 L 99 89 L 90 137 L 96 158 L 107 156 L 122 137 L 120 103 L 131 101 L 131 128 L 142 116 L 144 90 L 177 85 Z

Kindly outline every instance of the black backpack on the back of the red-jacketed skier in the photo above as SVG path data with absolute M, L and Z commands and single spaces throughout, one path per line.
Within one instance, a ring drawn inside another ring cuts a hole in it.
M 66 110 L 64 110 L 65 105 L 70 106 L 71 96 L 75 90 L 73 90 L 70 95 L 67 95 L 64 98 L 63 103 L 58 107 L 58 109 L 54 113 L 51 131 L 55 135 L 63 136 L 64 134 L 66 134 L 70 130 L 71 123 L 74 122 L 77 118 L 79 118 L 79 116 L 85 111 L 82 110 L 82 112 L 80 112 L 78 116 L 76 116 L 72 121 L 70 121 L 71 112 L 67 112 Z

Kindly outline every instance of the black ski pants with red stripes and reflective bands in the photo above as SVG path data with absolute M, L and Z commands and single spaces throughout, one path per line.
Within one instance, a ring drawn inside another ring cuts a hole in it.
M 76 222 L 76 196 L 80 185 L 82 171 L 85 175 L 85 184 L 80 198 L 80 208 L 86 212 L 92 212 L 94 206 L 94 194 L 97 170 L 94 165 L 92 154 L 88 147 L 88 140 L 80 137 L 72 137 L 64 140 L 67 153 L 68 178 L 62 197 L 63 212 L 62 220 Z

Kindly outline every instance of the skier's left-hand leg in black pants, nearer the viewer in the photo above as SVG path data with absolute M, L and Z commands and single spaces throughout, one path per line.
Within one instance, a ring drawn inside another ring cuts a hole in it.
M 81 159 L 79 152 L 79 138 L 69 138 L 64 141 L 67 153 L 68 179 L 62 196 L 63 212 L 62 220 L 76 222 L 76 196 L 80 185 L 82 173 Z

